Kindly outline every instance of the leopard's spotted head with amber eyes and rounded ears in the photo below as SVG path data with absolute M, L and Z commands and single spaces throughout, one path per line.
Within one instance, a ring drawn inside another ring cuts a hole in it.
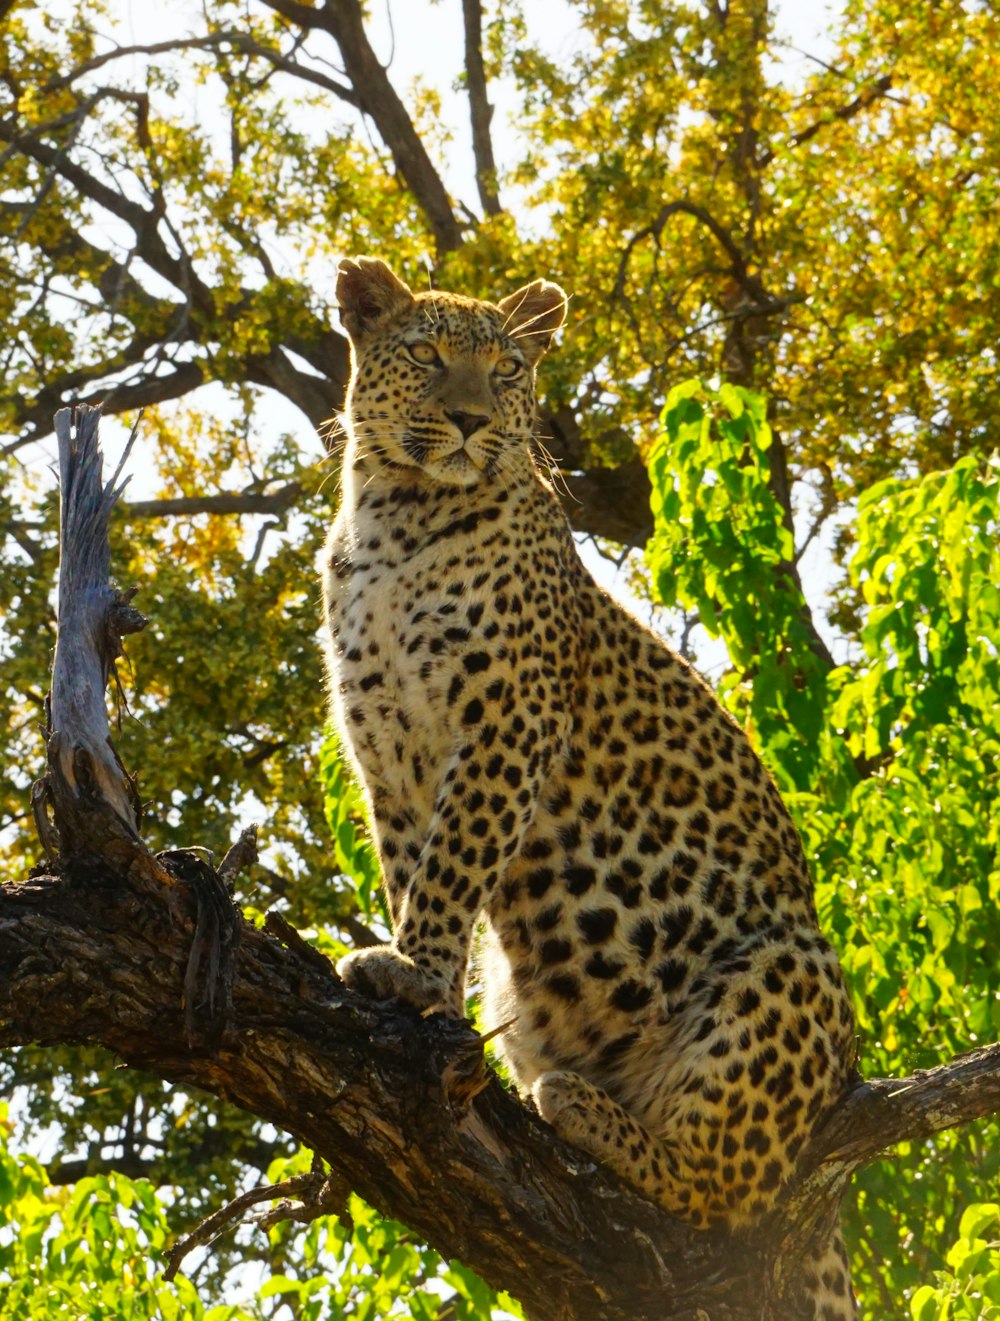
M 567 296 L 535 280 L 481 303 L 413 293 L 384 262 L 351 258 L 337 277 L 351 343 L 349 431 L 382 466 L 474 486 L 531 440 L 535 365 L 563 324 Z

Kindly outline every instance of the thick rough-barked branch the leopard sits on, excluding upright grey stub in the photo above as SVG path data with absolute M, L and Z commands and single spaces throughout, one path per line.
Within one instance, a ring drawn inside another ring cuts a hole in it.
M 489 1081 L 466 1025 L 367 1001 L 314 951 L 258 929 L 242 931 L 218 1049 L 190 1045 L 182 987 L 194 926 L 186 888 L 170 896 L 100 865 L 71 885 L 0 886 L 0 1045 L 103 1045 L 242 1106 L 520 1296 L 532 1317 L 694 1321 L 700 1306 L 713 1321 L 790 1321 L 775 1244 L 803 1218 L 832 1214 L 849 1172 L 889 1143 L 1000 1110 L 1000 1046 L 911 1079 L 859 1083 L 803 1157 L 799 1202 L 753 1235 L 700 1232 L 559 1143 Z

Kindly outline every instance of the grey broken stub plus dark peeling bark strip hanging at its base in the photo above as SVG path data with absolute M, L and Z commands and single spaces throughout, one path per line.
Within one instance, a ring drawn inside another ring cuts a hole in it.
M 122 655 L 122 638 L 145 627 L 131 601 L 135 590 L 111 581 L 108 524 L 127 480 L 122 470 L 135 444 L 132 429 L 111 480 L 103 481 L 100 408 L 81 404 L 55 413 L 59 445 L 58 631 L 48 701 L 48 769 L 32 789 L 38 834 L 50 859 L 75 878 L 100 860 L 112 877 L 129 877 L 169 905 L 193 904 L 185 934 L 184 976 L 172 987 L 184 1012 L 189 1046 L 211 1048 L 226 1030 L 231 974 L 240 923 L 230 881 L 256 857 L 248 830 L 215 872 L 197 851 L 155 857 L 139 834 L 139 795 L 111 742 L 106 688 Z

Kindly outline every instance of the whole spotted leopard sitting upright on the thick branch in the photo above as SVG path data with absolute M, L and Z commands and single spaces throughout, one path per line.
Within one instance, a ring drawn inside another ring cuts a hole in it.
M 567 296 L 345 259 L 329 696 L 391 941 L 347 987 L 481 1021 L 556 1133 L 696 1227 L 774 1206 L 855 1028 L 801 838 L 744 728 L 584 565 L 536 443 Z M 810 1318 L 857 1316 L 836 1230 Z

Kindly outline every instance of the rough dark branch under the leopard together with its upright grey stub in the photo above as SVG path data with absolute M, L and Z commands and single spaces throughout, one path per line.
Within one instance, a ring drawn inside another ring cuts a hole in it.
M 75 436 L 67 413 L 57 424 L 61 633 L 36 790 L 52 867 L 0 886 L 0 1045 L 100 1045 L 243 1107 L 329 1164 L 329 1177 L 296 1181 L 303 1214 L 357 1189 L 539 1321 L 802 1316 L 797 1263 L 828 1232 L 852 1173 L 893 1143 L 1000 1111 L 1000 1045 L 859 1081 L 782 1205 L 740 1235 L 692 1230 L 596 1168 L 490 1077 L 468 1024 L 369 1001 L 276 914 L 263 930 L 244 922 L 229 882 L 254 856 L 250 836 L 218 871 L 145 848 L 103 715 L 103 680 L 139 617 L 107 584 L 118 474 L 102 486 L 96 421 L 81 411 Z M 73 700 L 74 675 L 91 676 L 86 703 Z

